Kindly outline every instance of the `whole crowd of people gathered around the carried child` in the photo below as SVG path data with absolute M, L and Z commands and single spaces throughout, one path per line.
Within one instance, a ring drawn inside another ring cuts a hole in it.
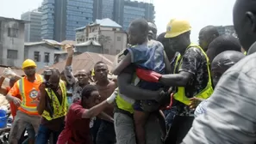
M 189 21 L 172 19 L 158 37 L 152 22 L 131 21 L 127 49 L 111 71 L 97 62 L 73 73 L 72 45 L 61 73 L 36 74 L 31 59 L 22 64 L 25 75 L 4 69 L 0 85 L 10 81 L 0 93 L 14 118 L 9 143 L 256 143 L 255 10 L 256 1 L 237 0 L 238 38 L 207 26 L 199 45 L 190 41 Z

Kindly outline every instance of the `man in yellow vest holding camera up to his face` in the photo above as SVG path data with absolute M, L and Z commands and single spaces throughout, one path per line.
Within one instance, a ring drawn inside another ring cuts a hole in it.
M 36 136 L 36 144 L 46 144 L 53 134 L 53 143 L 57 143 L 67 112 L 66 85 L 60 80 L 58 69 L 49 69 L 52 75 L 41 84 L 40 101 L 37 111 L 41 115 L 41 125 Z

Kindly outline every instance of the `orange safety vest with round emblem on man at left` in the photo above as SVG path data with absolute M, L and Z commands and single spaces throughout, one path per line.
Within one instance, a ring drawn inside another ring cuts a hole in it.
M 38 104 L 37 95 L 39 86 L 41 82 L 43 82 L 43 77 L 36 74 L 35 78 L 34 82 L 29 82 L 27 77 L 22 77 L 22 79 L 17 82 L 22 97 L 22 104 L 18 110 L 28 115 L 39 115 L 36 110 Z

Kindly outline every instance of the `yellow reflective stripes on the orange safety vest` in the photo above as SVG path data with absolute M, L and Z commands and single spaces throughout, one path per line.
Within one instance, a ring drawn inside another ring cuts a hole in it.
M 40 79 L 41 81 L 43 80 L 41 75 L 35 75 L 35 76 L 36 76 L 36 79 Z M 22 109 L 22 110 L 28 112 L 29 114 L 37 114 L 36 106 L 27 105 L 27 97 L 28 96 L 25 95 L 24 79 L 25 79 L 25 77 L 22 77 L 22 79 L 18 82 L 19 91 L 22 96 L 22 104 L 19 107 L 19 109 Z

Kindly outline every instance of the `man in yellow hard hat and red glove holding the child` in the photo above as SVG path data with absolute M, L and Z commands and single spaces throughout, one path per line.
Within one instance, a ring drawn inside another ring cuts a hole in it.
M 151 77 L 152 82 L 161 82 L 174 90 L 172 105 L 178 109 L 174 117 L 167 143 L 179 143 L 189 131 L 194 116 L 190 111 L 190 98 L 197 97 L 207 99 L 213 93 L 213 87 L 209 71 L 209 59 L 203 49 L 190 42 L 190 23 L 184 20 L 171 20 L 166 29 L 165 38 L 169 39 L 173 51 L 178 51 L 174 64 L 174 74 L 154 75 L 153 72 L 137 75 L 145 80 Z M 152 77 L 155 78 L 153 81 Z M 146 79 L 145 79 L 146 78 Z M 147 80 L 148 79 L 148 80 Z

